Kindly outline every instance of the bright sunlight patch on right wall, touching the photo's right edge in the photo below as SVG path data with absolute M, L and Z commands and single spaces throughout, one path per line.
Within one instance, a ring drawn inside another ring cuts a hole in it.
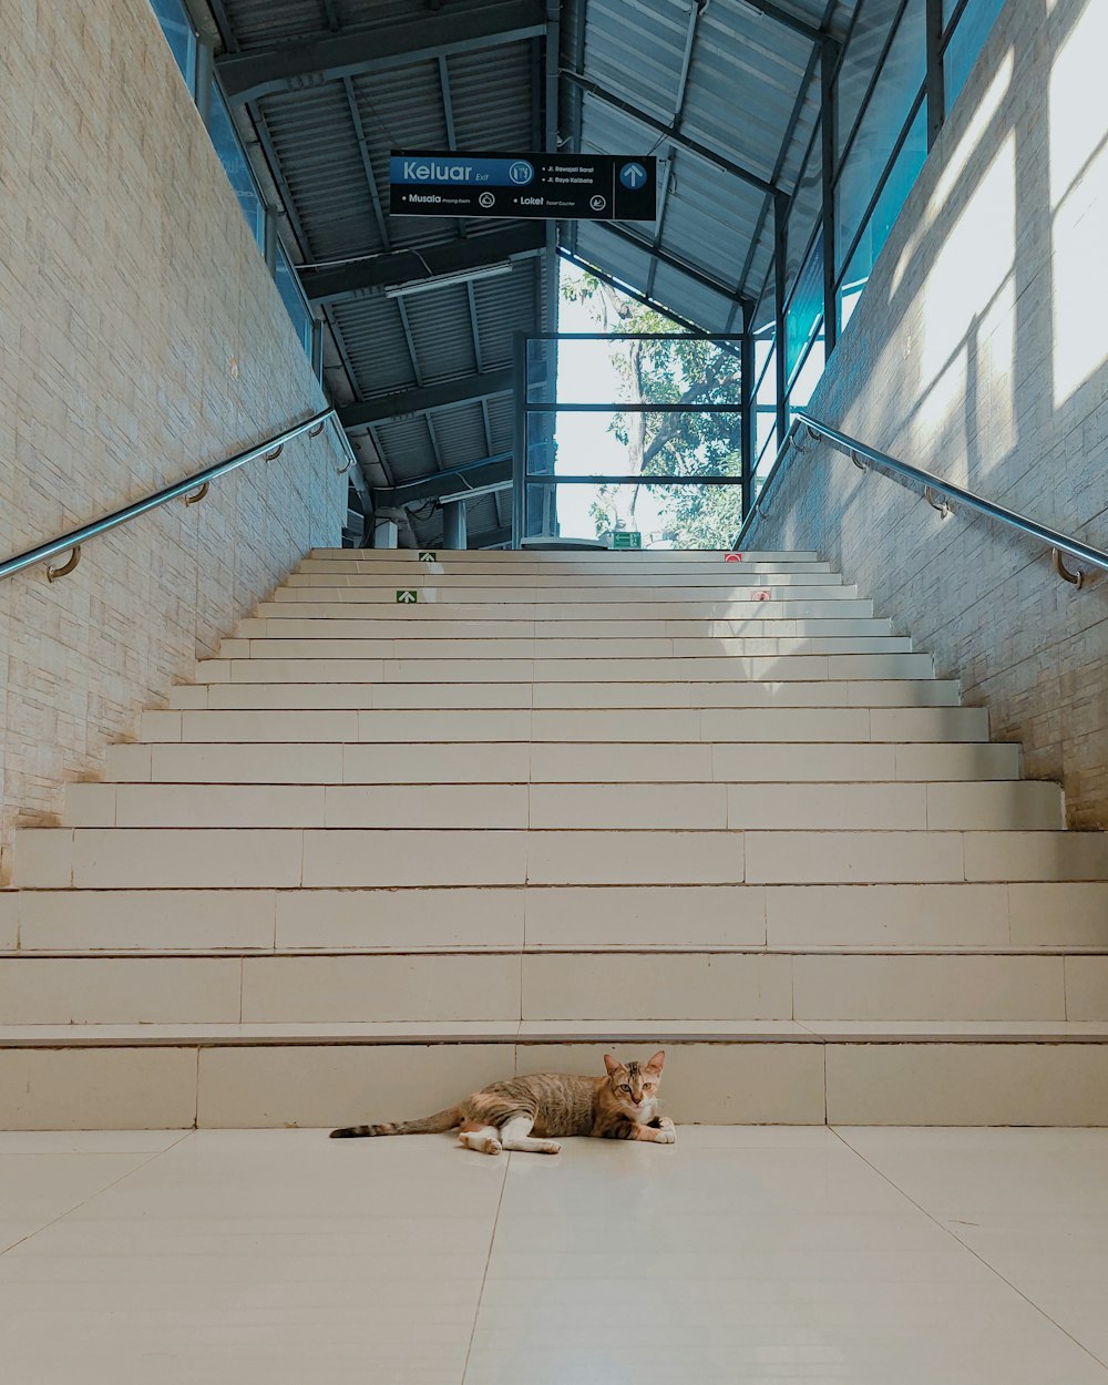
M 1050 75 L 1054 404 L 1108 359 L 1108 8 L 1090 4 Z

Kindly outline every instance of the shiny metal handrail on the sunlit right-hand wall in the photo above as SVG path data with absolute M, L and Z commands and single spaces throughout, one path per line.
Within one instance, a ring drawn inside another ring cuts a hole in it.
M 1108 572 L 1108 553 L 1100 548 L 1093 548 L 1087 543 L 1082 543 L 1079 539 L 1071 539 L 1068 535 L 1060 533 L 1057 529 L 1050 529 L 1047 525 L 1037 524 L 1035 519 L 1028 519 L 1026 515 L 1017 514 L 1015 510 L 1006 510 L 1004 506 L 997 506 L 992 500 L 986 500 L 983 496 L 974 494 L 972 490 L 964 490 L 961 486 L 953 485 L 950 481 L 943 481 L 942 476 L 936 476 L 931 471 L 925 471 L 922 467 L 913 467 L 906 461 L 897 461 L 896 457 L 889 457 L 888 453 L 878 452 L 875 447 L 867 447 L 866 443 L 859 442 L 857 438 L 850 438 L 848 434 L 839 432 L 837 428 L 830 428 L 827 424 L 821 424 L 819 418 L 812 418 L 809 414 L 794 414 L 789 422 L 788 432 L 781 446 L 777 449 L 777 456 L 774 457 L 773 467 L 770 468 L 769 476 L 766 476 L 766 483 L 762 488 L 758 500 L 753 503 L 751 512 L 742 521 L 742 528 L 735 535 L 735 542 L 731 544 L 731 550 L 742 547 L 742 540 L 747 537 L 747 530 L 758 518 L 766 518 L 766 503 L 770 489 L 777 482 L 778 476 L 784 471 L 784 457 L 789 447 L 795 447 L 798 452 L 803 452 L 803 446 L 796 440 L 796 435 L 803 429 L 809 438 L 825 439 L 832 447 L 839 452 L 845 452 L 846 456 L 859 467 L 861 471 L 867 471 L 870 465 L 884 467 L 886 471 L 892 471 L 896 475 L 906 476 L 909 481 L 915 481 L 924 486 L 924 499 L 935 510 L 949 514 L 951 506 L 949 501 L 954 500 L 961 506 L 967 506 L 970 510 L 976 510 L 978 514 L 988 515 L 990 519 L 999 519 L 1001 524 L 1007 524 L 1012 529 L 1018 529 L 1021 533 L 1030 535 L 1033 539 L 1039 539 L 1047 547 L 1054 550 L 1054 568 L 1061 578 L 1066 582 L 1072 582 L 1073 586 L 1080 586 L 1082 573 L 1069 573 L 1062 566 L 1061 554 L 1068 553 L 1073 558 L 1079 558 L 1082 562 L 1087 562 L 1094 568 L 1100 568 L 1101 572 Z M 936 504 L 931 496 L 931 492 L 936 492 L 940 496 L 946 496 L 946 501 Z

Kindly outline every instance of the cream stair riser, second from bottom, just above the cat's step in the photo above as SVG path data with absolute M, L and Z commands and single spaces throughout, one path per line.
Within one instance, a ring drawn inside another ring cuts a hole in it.
M 1098 1021 L 1108 954 L 769 949 L 0 954 L 0 1024 Z

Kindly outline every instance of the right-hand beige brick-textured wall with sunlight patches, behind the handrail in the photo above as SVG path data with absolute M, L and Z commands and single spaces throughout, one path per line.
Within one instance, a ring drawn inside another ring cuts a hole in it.
M 809 411 L 1108 548 L 1108 6 L 1008 0 Z M 807 443 L 749 548 L 816 548 L 1108 825 L 1108 575 Z M 1071 564 L 1072 566 L 1073 564 Z

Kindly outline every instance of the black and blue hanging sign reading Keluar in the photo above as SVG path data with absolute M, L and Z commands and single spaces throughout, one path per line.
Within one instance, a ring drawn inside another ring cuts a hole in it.
M 611 154 L 396 154 L 392 216 L 652 222 L 658 161 Z

